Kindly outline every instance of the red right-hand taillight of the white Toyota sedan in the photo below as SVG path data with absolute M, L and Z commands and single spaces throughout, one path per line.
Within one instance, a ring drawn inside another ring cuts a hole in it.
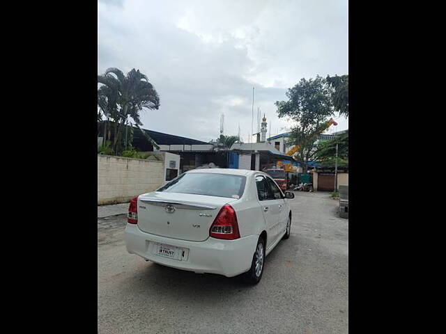
M 217 239 L 233 240 L 240 238 L 237 215 L 231 205 L 224 205 L 210 225 L 209 236 Z

